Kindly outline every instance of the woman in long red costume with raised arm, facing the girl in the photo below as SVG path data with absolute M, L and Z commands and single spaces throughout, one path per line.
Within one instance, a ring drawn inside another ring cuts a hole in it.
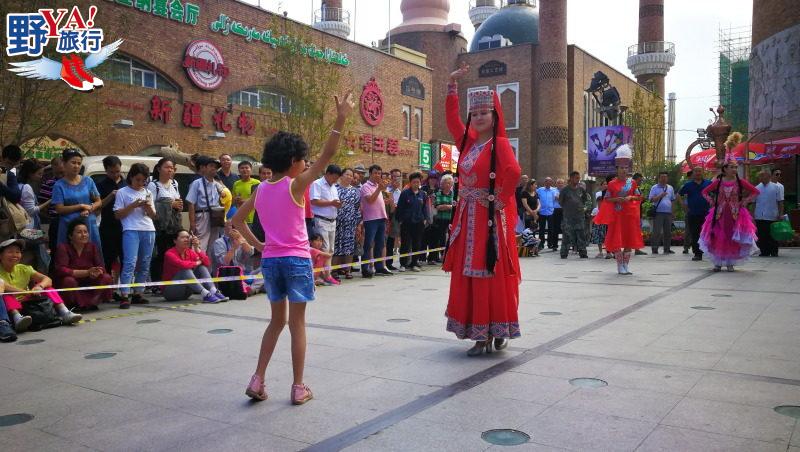
M 520 336 L 514 189 L 522 170 L 494 91 L 470 93 L 469 118 L 461 122 L 456 81 L 468 71 L 462 65 L 448 85 L 447 127 L 461 155 L 443 268 L 451 274 L 447 331 L 475 341 L 467 354 L 477 356 L 493 346 L 502 350 Z

